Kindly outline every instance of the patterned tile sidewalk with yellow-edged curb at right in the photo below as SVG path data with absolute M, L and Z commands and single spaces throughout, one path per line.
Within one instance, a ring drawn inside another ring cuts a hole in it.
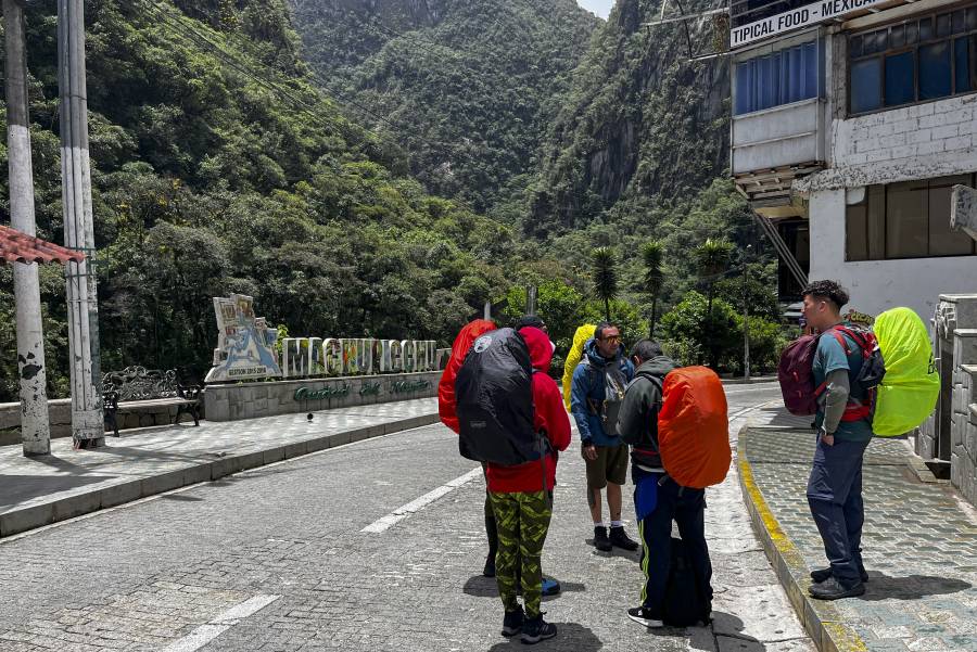
M 826 561 L 805 497 L 814 436 L 800 420 L 740 431 L 744 500 L 781 584 L 821 652 L 977 650 L 977 510 L 926 480 L 905 442 L 875 439 L 864 466 L 867 592 L 808 596 Z M 914 471 L 913 468 L 917 471 Z

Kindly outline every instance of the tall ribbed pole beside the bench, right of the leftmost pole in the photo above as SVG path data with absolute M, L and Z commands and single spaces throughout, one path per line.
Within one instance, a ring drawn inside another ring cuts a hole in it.
M 99 307 L 88 158 L 83 0 L 58 0 L 58 69 L 64 244 L 87 256 L 83 263 L 65 266 L 72 358 L 72 435 L 77 447 L 90 448 L 104 444 L 105 427 L 99 393 Z

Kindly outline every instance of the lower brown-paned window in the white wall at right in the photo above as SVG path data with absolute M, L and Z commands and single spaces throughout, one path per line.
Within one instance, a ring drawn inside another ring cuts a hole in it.
M 954 184 L 973 187 L 974 175 L 870 186 L 848 206 L 846 260 L 886 260 L 969 256 L 974 241 L 950 230 L 950 193 Z

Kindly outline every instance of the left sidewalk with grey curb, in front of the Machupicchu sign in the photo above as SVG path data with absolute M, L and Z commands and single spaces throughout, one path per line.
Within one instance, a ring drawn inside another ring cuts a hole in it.
M 106 437 L 96 450 L 51 442 L 26 458 L 0 447 L 0 537 L 245 469 L 435 423 L 437 401 L 421 398 L 305 413 L 143 429 Z

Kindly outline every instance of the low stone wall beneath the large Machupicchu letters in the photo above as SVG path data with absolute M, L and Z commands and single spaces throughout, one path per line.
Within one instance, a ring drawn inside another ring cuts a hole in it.
M 204 414 L 236 421 L 435 396 L 441 371 L 207 385 Z

